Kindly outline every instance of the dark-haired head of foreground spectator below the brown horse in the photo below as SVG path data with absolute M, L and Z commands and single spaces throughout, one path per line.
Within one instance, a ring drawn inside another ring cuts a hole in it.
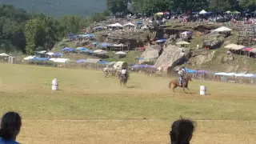
M 173 123 L 170 131 L 171 144 L 190 144 L 195 123 L 189 119 L 181 118 Z

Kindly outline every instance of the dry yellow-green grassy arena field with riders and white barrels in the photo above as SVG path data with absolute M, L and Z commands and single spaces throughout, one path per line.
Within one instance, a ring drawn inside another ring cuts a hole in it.
M 130 76 L 124 89 L 99 71 L 0 64 L 0 114 L 22 115 L 25 144 L 164 144 L 180 116 L 198 124 L 192 143 L 255 143 L 254 86 L 194 81 L 193 94 L 174 94 L 169 78 Z M 53 78 L 61 90 L 51 90 Z M 200 85 L 209 95 L 198 95 Z

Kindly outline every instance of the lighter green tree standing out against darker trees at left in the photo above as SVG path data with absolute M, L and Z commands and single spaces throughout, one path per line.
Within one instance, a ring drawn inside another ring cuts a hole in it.
M 30 19 L 26 23 L 26 53 L 34 54 L 35 48 L 38 46 L 38 36 L 42 33 L 42 24 L 38 19 Z

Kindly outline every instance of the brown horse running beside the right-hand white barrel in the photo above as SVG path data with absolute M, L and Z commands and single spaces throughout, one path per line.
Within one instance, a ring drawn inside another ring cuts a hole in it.
M 185 93 L 186 93 L 185 88 L 186 88 L 186 90 L 189 90 L 189 92 L 190 92 L 190 89 L 188 88 L 190 81 L 192 81 L 192 78 L 190 77 L 189 74 L 186 74 L 185 78 L 182 80 L 182 86 L 179 86 L 178 79 L 174 79 L 174 80 L 170 81 L 169 88 L 172 88 L 174 91 L 174 89 L 176 89 L 179 86 L 179 87 L 183 88 L 183 91 Z

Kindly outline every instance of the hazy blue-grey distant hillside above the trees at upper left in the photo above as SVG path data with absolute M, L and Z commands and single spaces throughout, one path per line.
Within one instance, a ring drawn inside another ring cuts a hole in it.
M 30 12 L 43 12 L 56 17 L 90 15 L 106 9 L 106 0 L 0 0 L 0 4 L 9 4 Z

